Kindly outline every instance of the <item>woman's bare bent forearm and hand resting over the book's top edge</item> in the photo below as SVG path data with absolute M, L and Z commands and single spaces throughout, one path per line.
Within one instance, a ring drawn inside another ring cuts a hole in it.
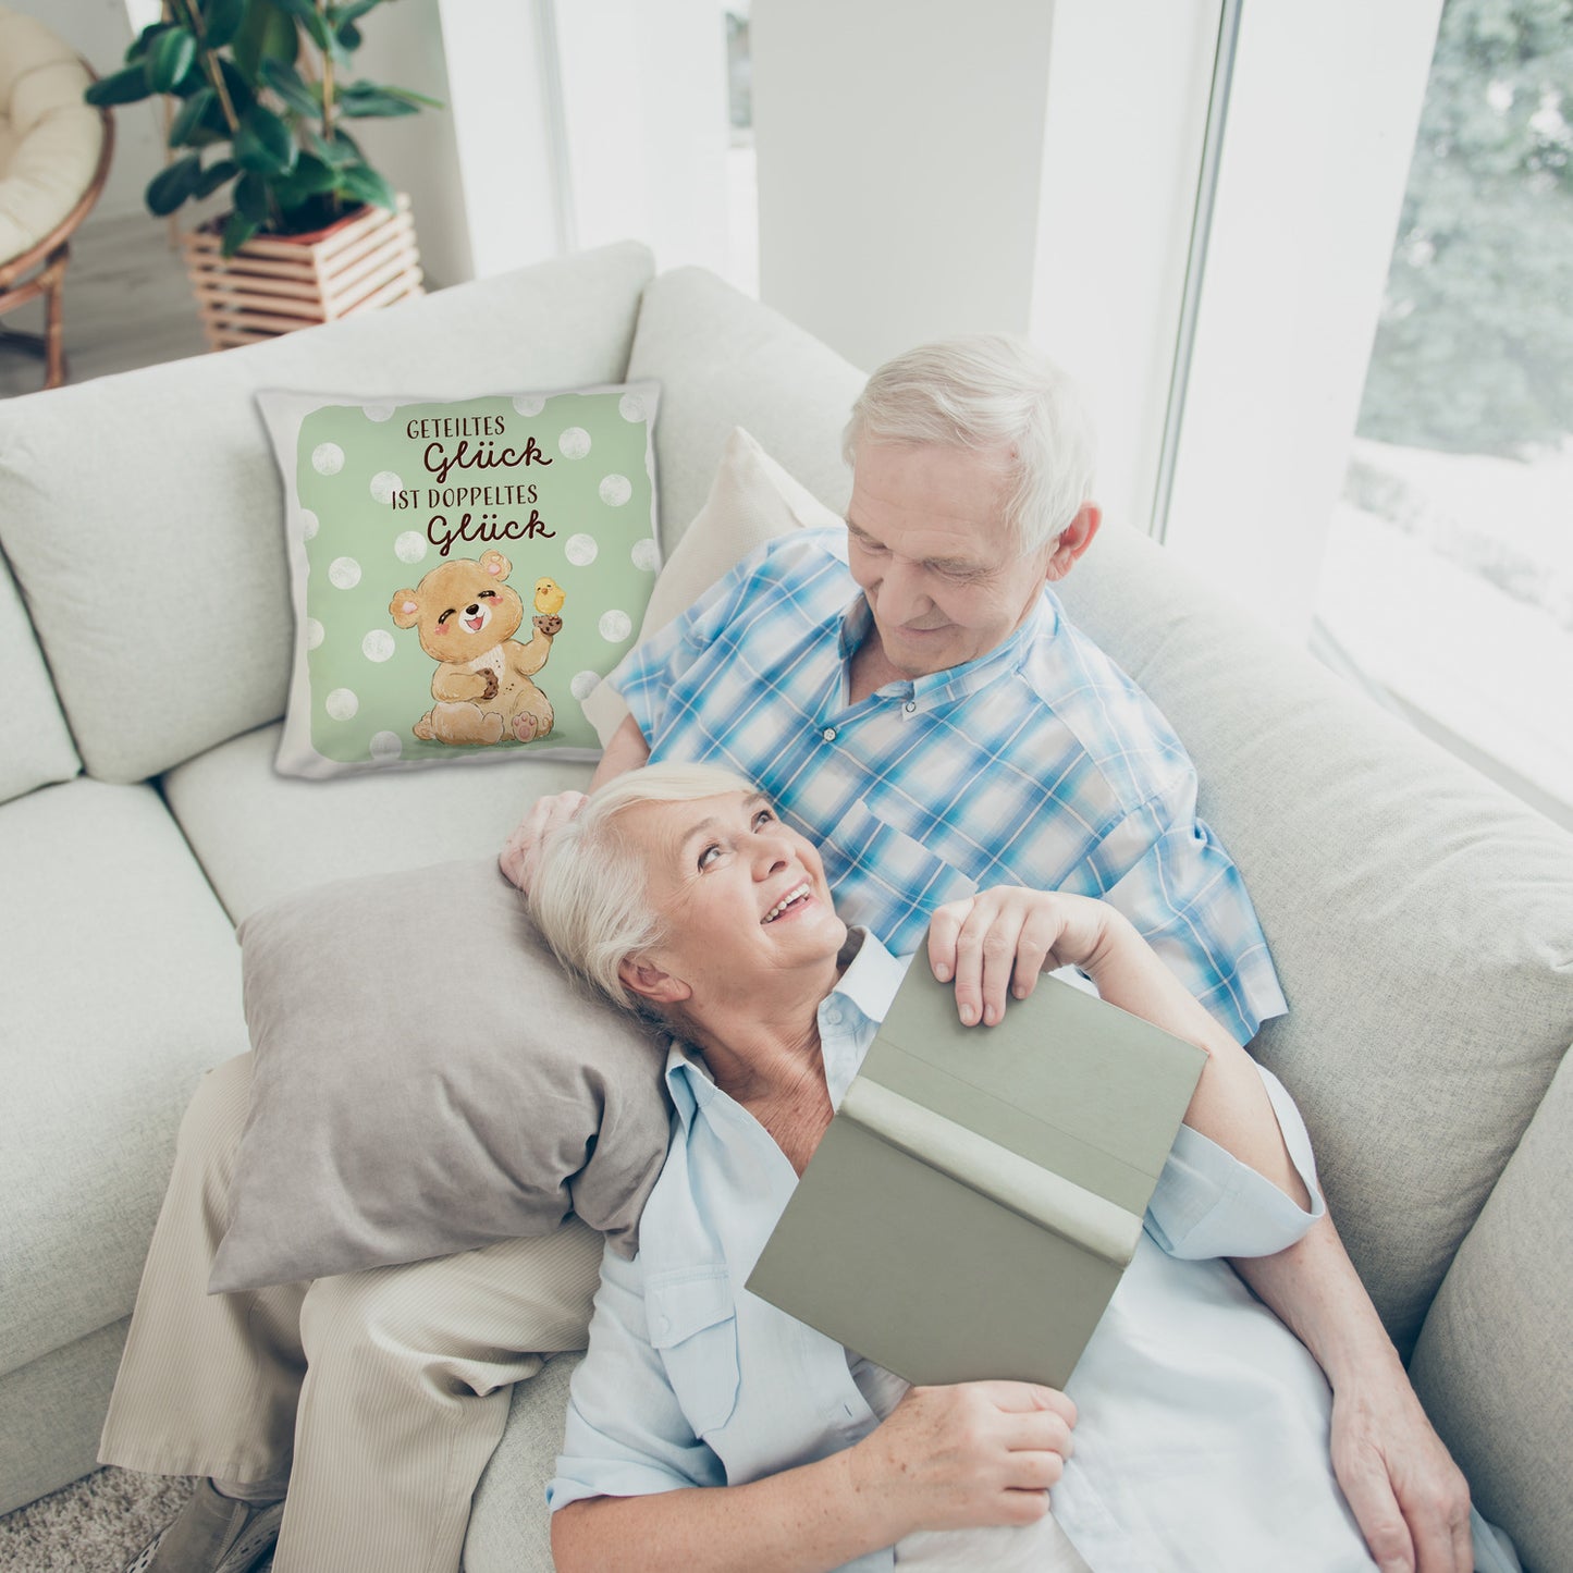
M 997 1022 L 1007 994 L 1026 999 L 1044 969 L 1081 967 L 1111 1005 L 1206 1054 L 1184 1123 L 1271 1180 L 1296 1206 L 1310 1208 L 1251 1055 L 1107 901 L 1019 886 L 983 890 L 934 914 L 928 960 L 941 982 L 955 978 L 956 1008 L 967 1026 Z

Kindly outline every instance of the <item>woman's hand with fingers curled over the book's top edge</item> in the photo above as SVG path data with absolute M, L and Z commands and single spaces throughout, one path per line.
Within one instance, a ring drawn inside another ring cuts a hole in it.
M 956 980 L 961 1021 L 993 1027 L 1005 1015 L 1007 993 L 1026 999 L 1038 974 L 1054 967 L 1092 971 L 1125 922 L 1090 897 L 996 886 L 934 912 L 928 963 L 941 983 Z

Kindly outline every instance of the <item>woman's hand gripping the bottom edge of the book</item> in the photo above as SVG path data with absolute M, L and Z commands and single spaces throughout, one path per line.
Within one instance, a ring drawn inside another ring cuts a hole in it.
M 853 1488 L 900 1538 L 914 1529 L 1030 1524 L 1071 1455 L 1076 1405 L 1054 1387 L 912 1387 L 848 1455 Z

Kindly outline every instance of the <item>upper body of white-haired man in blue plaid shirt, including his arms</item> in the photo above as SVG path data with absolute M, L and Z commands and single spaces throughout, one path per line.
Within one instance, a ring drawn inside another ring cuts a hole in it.
M 647 760 L 758 782 L 893 952 L 986 886 L 1103 897 L 1249 1041 L 1284 996 L 1189 757 L 1049 590 L 1100 525 L 1068 381 L 1008 338 L 923 346 L 873 373 L 845 456 L 845 536 L 771 543 L 612 675 L 631 716 L 595 785 Z M 514 832 L 516 882 L 579 801 Z M 1238 1269 L 1328 1373 L 1334 1463 L 1378 1564 L 1468 1568 L 1468 1486 L 1331 1219 Z

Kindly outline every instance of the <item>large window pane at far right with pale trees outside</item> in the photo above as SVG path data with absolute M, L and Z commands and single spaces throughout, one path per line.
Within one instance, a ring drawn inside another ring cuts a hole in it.
M 1447 0 L 1321 648 L 1573 820 L 1573 3 Z

